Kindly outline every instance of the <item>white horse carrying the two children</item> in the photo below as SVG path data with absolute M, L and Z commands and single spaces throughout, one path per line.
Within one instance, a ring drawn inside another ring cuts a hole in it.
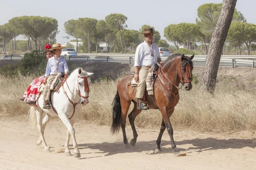
M 67 127 L 67 139 L 65 142 L 65 155 L 71 156 L 69 150 L 70 135 L 73 139 L 74 156 L 79 158 L 80 152 L 76 143 L 74 123 L 78 117 L 78 113 L 82 105 L 88 103 L 89 97 L 89 76 L 93 73 L 88 73 L 82 68 L 76 68 L 67 78 L 66 82 L 61 86 L 59 91 L 53 92 L 51 95 L 52 107 L 55 108 L 56 114 L 53 109 L 43 109 L 44 97 L 41 95 L 38 99 L 38 107 L 31 106 L 30 108 L 30 122 L 32 125 L 37 124 L 38 131 L 40 133 L 39 139 L 36 141 L 37 145 L 43 143 L 44 150 L 50 152 L 44 139 L 44 129 L 52 116 L 59 116 L 61 121 Z M 80 105 L 79 105 L 80 104 Z M 46 112 L 44 119 L 42 120 L 43 112 Z

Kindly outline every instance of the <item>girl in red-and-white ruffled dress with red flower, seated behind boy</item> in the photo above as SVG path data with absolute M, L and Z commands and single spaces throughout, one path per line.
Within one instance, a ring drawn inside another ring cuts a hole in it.
M 44 45 L 45 55 L 47 59 L 53 57 L 53 52 L 49 50 L 50 48 L 52 48 L 50 44 Z M 36 105 L 36 102 L 40 95 L 40 93 L 38 92 L 38 87 L 44 82 L 44 79 L 45 75 L 35 78 L 26 89 L 23 98 L 21 98 L 20 100 L 24 101 L 26 104 L 29 105 Z

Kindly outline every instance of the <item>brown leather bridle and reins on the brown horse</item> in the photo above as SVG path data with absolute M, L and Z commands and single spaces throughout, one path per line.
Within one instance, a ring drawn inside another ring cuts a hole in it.
M 163 81 L 162 77 L 159 76 L 159 79 L 160 81 L 162 82 L 162 84 L 167 88 L 167 90 L 169 90 L 171 92 L 171 94 L 174 96 L 174 99 L 176 99 L 176 97 L 178 96 L 179 94 L 179 89 L 182 89 L 182 88 L 179 88 L 177 85 L 175 85 L 167 76 L 166 74 L 164 74 L 163 72 L 163 69 L 162 69 L 162 63 L 160 64 L 159 66 L 159 69 L 157 71 L 157 74 L 156 74 L 156 77 L 158 77 L 158 75 L 160 75 L 160 72 L 162 72 L 163 76 L 166 77 L 166 79 L 172 83 L 172 85 L 175 86 L 175 88 L 177 88 L 178 92 L 177 94 L 174 94 L 174 92 L 168 87 L 168 85 Z M 191 80 L 184 80 L 184 78 L 182 77 L 182 74 L 181 74 L 181 67 L 180 67 L 180 77 L 181 77 L 181 83 L 184 84 L 184 82 L 192 82 Z M 191 78 L 191 72 L 190 72 L 190 65 L 187 64 L 186 65 L 186 78 L 189 79 Z

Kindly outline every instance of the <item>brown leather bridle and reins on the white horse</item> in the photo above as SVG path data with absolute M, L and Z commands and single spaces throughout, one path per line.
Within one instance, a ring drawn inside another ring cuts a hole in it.
M 87 95 L 87 96 L 82 96 L 81 93 L 80 93 L 79 88 L 78 88 L 78 94 L 79 94 L 80 97 L 82 97 L 82 98 L 84 98 L 84 99 L 88 99 L 90 89 L 89 89 L 89 83 L 88 83 L 87 78 L 89 78 L 89 76 L 87 76 L 87 77 L 85 77 L 85 76 L 78 76 L 78 77 L 84 79 L 84 91 L 87 92 L 88 95 Z M 77 81 L 78 81 L 78 80 L 77 80 Z M 67 96 L 67 92 L 64 90 L 64 87 L 63 87 L 63 86 L 64 86 L 64 82 L 66 82 L 66 84 L 67 84 L 67 75 L 65 75 L 63 84 L 61 85 L 61 86 L 62 86 L 62 89 L 63 89 L 63 91 L 64 91 L 64 94 Z M 61 82 L 61 83 L 62 83 L 62 82 Z M 77 83 L 77 86 L 78 86 L 78 83 Z M 67 88 L 68 88 L 68 90 L 70 91 L 70 88 L 69 88 L 68 84 L 67 84 Z M 73 94 L 71 91 L 70 91 L 70 93 Z M 74 96 L 74 94 L 73 94 L 73 96 Z M 74 98 L 75 98 L 75 97 L 74 97 Z M 69 118 L 69 119 L 71 119 L 71 118 L 74 116 L 74 113 L 75 113 L 75 111 L 76 111 L 76 105 L 79 104 L 80 99 L 79 99 L 79 101 L 77 101 L 76 103 L 72 102 L 72 100 L 71 100 L 68 96 L 67 96 L 67 99 L 68 99 L 68 100 L 70 101 L 70 103 L 73 105 L 73 113 L 72 113 L 72 116 Z M 75 98 L 75 99 L 76 99 L 76 98 Z

